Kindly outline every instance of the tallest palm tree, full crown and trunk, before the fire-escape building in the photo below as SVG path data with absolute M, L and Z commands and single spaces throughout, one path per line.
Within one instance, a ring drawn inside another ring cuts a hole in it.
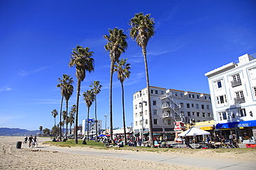
M 149 74 L 147 69 L 147 42 L 152 36 L 154 36 L 154 19 L 149 18 L 150 14 L 143 14 L 140 12 L 134 15 L 134 18 L 130 19 L 129 25 L 131 28 L 130 36 L 133 40 L 136 40 L 137 44 L 142 47 L 142 52 L 145 62 L 145 74 L 147 79 L 147 100 L 149 103 L 149 135 L 150 135 L 150 146 L 154 147 L 153 142 L 153 127 L 152 127 L 152 114 L 151 114 L 151 102 L 150 102 L 150 89 L 149 89 Z

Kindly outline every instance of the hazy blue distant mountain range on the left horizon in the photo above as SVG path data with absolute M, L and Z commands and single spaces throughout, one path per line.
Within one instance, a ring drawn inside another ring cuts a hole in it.
M 38 134 L 40 134 L 39 130 L 29 131 L 26 129 L 19 128 L 0 127 L 0 136 L 35 136 Z

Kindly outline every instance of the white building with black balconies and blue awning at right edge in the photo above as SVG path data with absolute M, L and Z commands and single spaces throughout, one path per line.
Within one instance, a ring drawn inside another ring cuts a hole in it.
M 228 63 L 208 76 L 216 129 L 248 138 L 256 131 L 256 59 L 244 54 L 239 63 Z

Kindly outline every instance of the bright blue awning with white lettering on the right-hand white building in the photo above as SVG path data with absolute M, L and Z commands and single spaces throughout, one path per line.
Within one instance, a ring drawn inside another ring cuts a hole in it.
M 234 123 L 218 123 L 216 129 L 226 129 L 232 127 L 256 127 L 256 120 L 248 120 Z

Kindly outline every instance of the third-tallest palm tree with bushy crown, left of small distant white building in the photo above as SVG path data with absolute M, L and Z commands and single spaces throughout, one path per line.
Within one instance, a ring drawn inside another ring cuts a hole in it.
M 78 105 L 80 96 L 81 81 L 84 81 L 87 72 L 93 72 L 94 59 L 93 52 L 89 51 L 89 47 L 82 47 L 77 45 L 73 48 L 71 53 L 71 60 L 69 61 L 69 67 L 75 66 L 75 76 L 77 77 L 77 100 L 76 100 L 76 112 L 75 112 L 75 144 L 77 144 L 77 127 L 78 127 Z

